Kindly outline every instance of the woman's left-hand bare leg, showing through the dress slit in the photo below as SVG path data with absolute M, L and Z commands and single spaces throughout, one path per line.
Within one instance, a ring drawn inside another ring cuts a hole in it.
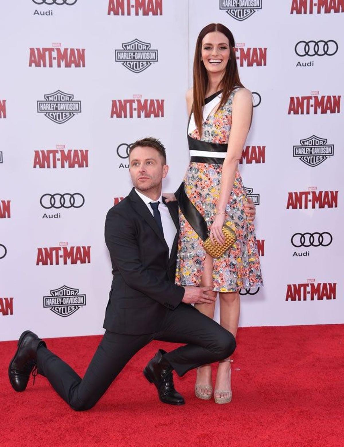
M 204 270 L 201 279 L 201 286 L 203 287 L 212 287 L 213 286 L 213 258 L 206 255 L 206 259 L 204 261 Z M 215 296 L 217 292 L 208 292 L 209 295 Z M 197 308 L 201 313 L 210 318 L 214 318 L 214 310 L 215 303 L 212 304 L 195 304 L 195 308 Z M 211 365 L 203 365 L 197 368 L 197 379 L 196 385 L 206 385 L 206 387 L 212 387 L 211 381 Z M 212 394 L 209 388 L 198 387 L 198 390 L 201 394 L 205 396 L 210 396 Z

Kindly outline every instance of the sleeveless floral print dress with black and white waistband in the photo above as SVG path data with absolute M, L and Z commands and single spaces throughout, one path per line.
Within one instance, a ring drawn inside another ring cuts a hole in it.
M 220 195 L 222 163 L 226 156 L 231 131 L 232 102 L 235 88 L 225 105 L 216 113 L 221 92 L 206 98 L 203 107 L 203 129 L 200 137 L 193 114 L 190 115 L 188 140 L 190 163 L 184 178 L 185 193 L 211 227 Z M 247 201 L 239 170 L 226 207 L 226 220 L 236 233 L 237 240 L 230 250 L 214 258 L 213 290 L 236 292 L 241 288 L 263 285 L 254 224 L 244 212 Z M 180 235 L 176 267 L 176 284 L 199 286 L 206 252 L 203 240 L 179 212 Z

